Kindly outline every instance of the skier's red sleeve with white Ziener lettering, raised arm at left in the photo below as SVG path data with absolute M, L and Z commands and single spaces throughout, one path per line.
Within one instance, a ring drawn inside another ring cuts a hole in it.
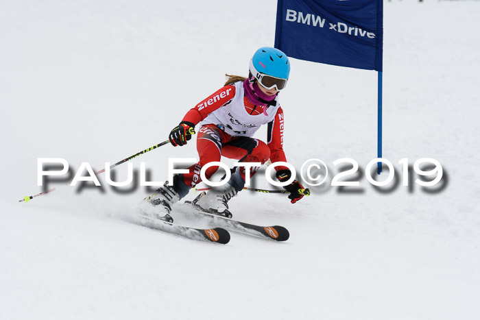
M 182 121 L 189 121 L 196 125 L 205 119 L 208 114 L 211 114 L 221 106 L 225 106 L 226 103 L 232 101 L 233 97 L 235 97 L 235 86 L 224 86 L 216 93 L 213 93 L 213 95 L 202 100 L 197 106 L 191 108 L 189 112 L 185 114 Z

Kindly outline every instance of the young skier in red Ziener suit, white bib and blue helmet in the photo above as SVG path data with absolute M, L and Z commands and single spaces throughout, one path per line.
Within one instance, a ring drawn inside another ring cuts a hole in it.
M 173 176 L 150 197 L 145 198 L 156 213 L 169 216 L 171 206 L 185 197 L 189 190 L 200 183 L 200 169 L 208 162 L 220 161 L 221 156 L 238 159 L 239 162 L 260 162 L 270 158 L 273 162 L 286 162 L 283 151 L 283 111 L 278 103 L 278 93 L 285 88 L 290 73 L 290 63 L 282 51 L 263 47 L 250 60 L 248 78 L 228 75 L 225 86 L 189 110 L 180 124 L 171 130 L 169 140 L 173 146 L 186 145 L 191 139 L 191 128 L 200 124 L 197 135 L 197 151 L 200 161 L 189 168 L 189 173 Z M 261 125 L 268 125 L 267 143 L 252 136 Z M 205 175 L 210 178 L 218 167 L 210 167 Z M 253 175 L 259 167 L 252 167 Z M 291 177 L 287 167 L 276 167 L 276 177 L 285 182 Z M 228 183 L 211 188 L 197 201 L 197 205 L 210 212 L 221 213 L 228 209 L 227 202 L 245 185 L 245 167 L 235 167 Z M 298 181 L 284 186 L 294 204 L 309 195 Z

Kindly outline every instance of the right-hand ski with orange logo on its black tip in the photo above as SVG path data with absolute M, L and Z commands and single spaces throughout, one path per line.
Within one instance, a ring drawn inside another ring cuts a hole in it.
M 197 201 L 199 197 L 195 198 Z M 190 208 L 195 209 L 195 214 L 202 214 L 202 217 L 209 219 L 217 227 L 224 227 L 226 230 L 232 232 L 239 232 L 241 234 L 248 234 L 250 236 L 258 236 L 261 238 L 273 239 L 274 241 L 287 241 L 290 234 L 287 228 L 280 225 L 272 225 L 263 227 L 261 225 L 253 225 L 251 223 L 245 223 L 238 220 L 231 219 L 232 214 L 230 211 L 219 213 L 206 212 L 203 208 L 196 204 L 196 201 L 185 201 L 184 204 Z

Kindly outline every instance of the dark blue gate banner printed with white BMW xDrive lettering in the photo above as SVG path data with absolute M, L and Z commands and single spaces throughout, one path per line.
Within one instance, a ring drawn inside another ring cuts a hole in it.
M 276 14 L 287 56 L 382 71 L 383 0 L 278 0 Z

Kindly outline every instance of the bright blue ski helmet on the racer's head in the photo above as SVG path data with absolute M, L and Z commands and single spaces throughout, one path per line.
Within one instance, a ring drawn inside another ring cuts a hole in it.
M 262 47 L 255 52 L 250 61 L 250 73 L 254 77 L 257 73 L 262 73 L 280 79 L 288 79 L 290 62 L 282 51 L 276 48 Z

